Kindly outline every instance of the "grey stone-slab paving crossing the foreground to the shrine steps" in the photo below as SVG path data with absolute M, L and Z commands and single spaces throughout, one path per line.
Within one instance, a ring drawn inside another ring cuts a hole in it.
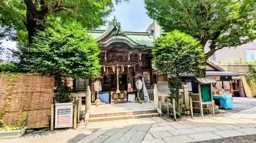
M 125 127 L 111 125 L 112 129 L 101 128 L 77 143 L 186 143 L 256 134 L 256 107 L 228 117 L 212 119 L 167 122 L 160 117 L 153 117 L 124 121 Z M 102 125 L 103 123 L 101 122 Z

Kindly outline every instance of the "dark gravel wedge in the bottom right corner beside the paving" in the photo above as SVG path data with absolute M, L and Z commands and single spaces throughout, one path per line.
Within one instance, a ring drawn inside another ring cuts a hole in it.
M 234 137 L 221 138 L 221 139 L 212 139 L 212 140 L 205 140 L 205 141 L 197 141 L 195 143 L 236 143 L 236 142 L 254 143 L 256 142 L 256 134 L 234 136 Z

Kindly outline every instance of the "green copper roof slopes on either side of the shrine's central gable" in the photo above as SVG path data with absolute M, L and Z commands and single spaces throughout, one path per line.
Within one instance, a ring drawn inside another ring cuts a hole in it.
M 106 30 L 92 30 L 92 31 L 87 31 L 87 33 L 90 34 L 94 39 L 97 39 L 100 36 L 102 36 L 105 31 Z M 127 38 L 133 40 L 134 42 L 140 45 L 153 47 L 153 36 L 150 36 L 148 32 L 124 32 L 124 33 Z

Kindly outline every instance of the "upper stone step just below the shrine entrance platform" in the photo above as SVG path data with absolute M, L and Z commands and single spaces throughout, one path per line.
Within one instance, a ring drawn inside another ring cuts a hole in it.
M 155 109 L 148 109 L 148 110 L 121 111 L 121 112 L 108 112 L 108 113 L 90 113 L 90 118 L 136 115 L 136 114 L 155 113 L 155 112 L 156 112 Z

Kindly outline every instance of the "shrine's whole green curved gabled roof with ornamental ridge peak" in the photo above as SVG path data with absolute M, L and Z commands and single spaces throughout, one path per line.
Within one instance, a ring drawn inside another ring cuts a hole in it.
M 99 46 L 108 46 L 112 43 L 124 42 L 134 48 L 152 48 L 153 37 L 150 32 L 125 32 L 121 28 L 120 22 L 114 19 L 109 23 L 107 30 L 87 31 Z

